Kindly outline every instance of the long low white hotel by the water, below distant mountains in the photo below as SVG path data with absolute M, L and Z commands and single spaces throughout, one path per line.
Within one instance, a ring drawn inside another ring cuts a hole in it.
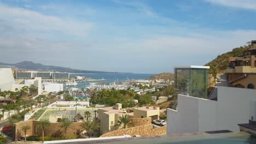
M 42 77 L 42 79 L 69 79 L 69 73 L 60 72 L 38 72 L 38 71 L 17 71 L 16 79 L 34 79 Z

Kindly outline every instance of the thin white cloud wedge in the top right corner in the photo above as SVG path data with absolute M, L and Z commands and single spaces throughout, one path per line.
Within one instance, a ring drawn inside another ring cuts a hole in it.
M 226 7 L 256 10 L 255 0 L 205 0 L 213 4 L 220 4 Z

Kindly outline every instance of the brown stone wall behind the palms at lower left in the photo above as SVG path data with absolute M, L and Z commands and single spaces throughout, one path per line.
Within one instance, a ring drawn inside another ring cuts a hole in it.
M 21 130 L 23 125 L 30 126 L 30 130 L 27 130 L 27 136 L 39 135 L 42 136 L 42 130 L 37 128 L 37 122 L 34 120 L 24 121 L 15 123 L 15 137 L 18 139 L 18 136 L 24 136 L 24 131 Z M 82 123 L 72 123 L 71 126 L 67 129 L 67 134 L 69 136 L 75 136 L 80 133 Z M 62 135 L 65 135 L 65 130 L 61 128 L 61 123 L 50 123 L 50 126 L 45 128 L 44 135 L 51 136 L 54 135 L 57 131 L 61 131 Z M 19 134 L 20 133 L 20 134 Z

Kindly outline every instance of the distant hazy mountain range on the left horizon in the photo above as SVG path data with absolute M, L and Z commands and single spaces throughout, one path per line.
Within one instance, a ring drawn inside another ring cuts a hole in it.
M 15 64 L 9 63 L 1 63 L 0 68 L 18 68 L 18 69 L 26 69 L 26 70 L 37 70 L 37 71 L 60 71 L 60 72 L 68 72 L 68 73 L 118 73 L 118 72 L 108 72 L 108 71 L 95 71 L 95 70 L 78 70 L 71 69 L 65 67 L 57 67 L 53 65 L 43 65 L 40 63 L 33 63 L 30 61 L 24 61 Z

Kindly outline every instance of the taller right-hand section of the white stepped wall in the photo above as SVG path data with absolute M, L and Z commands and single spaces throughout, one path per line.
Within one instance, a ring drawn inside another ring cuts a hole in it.
M 237 124 L 248 123 L 250 100 L 256 100 L 255 89 L 218 87 L 218 129 L 239 131 Z

